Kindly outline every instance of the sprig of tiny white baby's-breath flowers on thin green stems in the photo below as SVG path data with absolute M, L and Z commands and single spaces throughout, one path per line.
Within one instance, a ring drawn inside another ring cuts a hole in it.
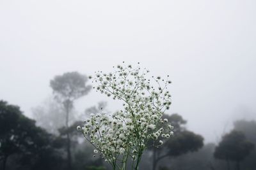
M 111 115 L 92 113 L 83 127 L 77 126 L 77 131 L 113 169 L 138 169 L 148 142 L 153 140 L 158 147 L 163 145 L 160 138 L 173 134 L 173 126 L 162 119 L 171 104 L 167 89 L 171 81 L 160 76 L 148 79 L 149 71 L 141 69 L 140 63 L 136 67 L 123 63 L 114 68 L 113 73 L 98 71 L 89 78 L 95 83 L 93 89 L 122 101 L 124 108 Z

